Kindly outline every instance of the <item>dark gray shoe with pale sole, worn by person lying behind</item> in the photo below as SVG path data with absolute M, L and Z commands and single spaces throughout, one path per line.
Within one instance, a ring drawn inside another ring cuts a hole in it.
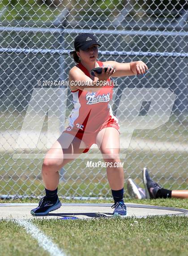
M 161 187 L 150 178 L 150 175 L 146 167 L 143 169 L 143 183 L 145 186 L 146 198 L 155 199 L 156 194 L 158 190 L 161 189 Z

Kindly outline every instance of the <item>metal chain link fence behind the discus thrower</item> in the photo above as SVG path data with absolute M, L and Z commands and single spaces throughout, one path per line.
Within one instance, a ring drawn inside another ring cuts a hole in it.
M 49 83 L 68 80 L 75 65 L 68 53 L 81 32 L 100 41 L 99 60 L 141 59 L 150 70 L 114 79 L 111 107 L 120 122 L 125 181 L 143 187 L 148 166 L 162 186 L 188 189 L 187 20 L 186 1 L 1 1 L 0 193 L 43 195 L 43 157 L 73 108 L 70 89 Z M 106 168 L 87 167 L 88 161 L 103 161 L 96 145 L 60 170 L 61 196 L 111 196 Z

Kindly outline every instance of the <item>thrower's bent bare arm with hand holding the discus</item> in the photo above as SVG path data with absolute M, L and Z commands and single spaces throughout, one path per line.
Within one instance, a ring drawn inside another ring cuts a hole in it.
M 103 72 L 104 73 L 104 72 Z M 104 74 L 104 76 L 107 76 Z M 106 77 L 104 80 L 107 80 Z M 101 85 L 97 85 L 97 81 L 100 81 L 97 77 L 94 81 L 84 74 L 78 67 L 72 67 L 69 72 L 69 86 L 72 91 L 74 90 L 85 90 L 88 92 L 97 92 L 101 89 Z

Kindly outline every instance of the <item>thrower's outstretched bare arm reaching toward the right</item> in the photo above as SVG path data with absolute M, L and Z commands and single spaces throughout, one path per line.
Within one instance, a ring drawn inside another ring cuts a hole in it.
M 109 65 L 115 69 L 115 72 L 111 75 L 112 77 L 143 75 L 148 70 L 147 65 L 141 60 L 130 63 L 106 61 L 103 62 L 103 65 L 105 67 Z

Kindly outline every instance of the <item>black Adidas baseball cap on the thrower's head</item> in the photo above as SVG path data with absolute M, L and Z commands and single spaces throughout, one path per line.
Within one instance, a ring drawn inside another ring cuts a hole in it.
M 76 53 L 79 49 L 85 51 L 91 45 L 98 45 L 97 39 L 90 33 L 81 33 L 74 40 L 74 51 L 71 51 L 70 54 Z

